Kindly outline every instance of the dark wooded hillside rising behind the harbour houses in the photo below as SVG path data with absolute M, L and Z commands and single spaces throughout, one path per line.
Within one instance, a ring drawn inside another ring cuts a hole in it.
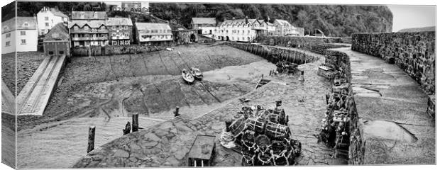
M 325 35 L 350 36 L 352 33 L 392 31 L 392 13 L 387 6 L 282 5 L 282 4 L 150 4 L 154 16 L 180 23 L 189 28 L 192 17 L 224 19 L 284 19 L 294 26 L 314 29 Z

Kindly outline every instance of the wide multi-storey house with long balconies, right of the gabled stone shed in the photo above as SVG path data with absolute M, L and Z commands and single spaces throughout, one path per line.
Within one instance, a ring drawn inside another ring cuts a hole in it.
M 72 11 L 69 23 L 72 47 L 109 45 L 107 14 L 101 11 Z

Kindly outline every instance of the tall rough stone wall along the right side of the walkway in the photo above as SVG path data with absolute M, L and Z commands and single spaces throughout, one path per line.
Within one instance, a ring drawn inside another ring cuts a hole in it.
M 435 93 L 435 31 L 416 33 L 353 34 L 351 50 L 363 52 L 397 64 L 422 85 L 427 94 Z

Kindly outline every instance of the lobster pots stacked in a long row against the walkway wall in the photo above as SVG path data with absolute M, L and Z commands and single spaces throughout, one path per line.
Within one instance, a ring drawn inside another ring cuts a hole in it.
M 326 94 L 327 109 L 320 137 L 322 142 L 334 149 L 347 149 L 349 145 L 348 86 L 346 79 L 337 77 L 331 94 Z

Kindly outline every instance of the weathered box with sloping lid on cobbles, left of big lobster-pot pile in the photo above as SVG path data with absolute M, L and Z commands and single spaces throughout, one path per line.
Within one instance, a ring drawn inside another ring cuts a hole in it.
M 215 136 L 197 135 L 188 154 L 188 166 L 212 166 L 215 153 Z

